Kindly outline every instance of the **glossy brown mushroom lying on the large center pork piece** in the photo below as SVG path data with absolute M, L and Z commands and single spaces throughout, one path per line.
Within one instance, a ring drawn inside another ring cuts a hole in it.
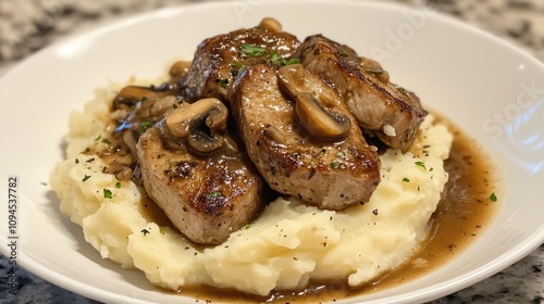
M 347 136 L 351 122 L 337 106 L 341 97 L 333 88 L 300 64 L 281 67 L 279 79 L 296 100 L 296 114 L 311 136 L 323 140 Z

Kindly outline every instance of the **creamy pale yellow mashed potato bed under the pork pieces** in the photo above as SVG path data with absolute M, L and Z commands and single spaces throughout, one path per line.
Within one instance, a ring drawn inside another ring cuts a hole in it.
M 410 152 L 381 155 L 382 181 L 364 205 L 334 212 L 277 199 L 223 244 L 196 248 L 146 212 L 143 189 L 81 153 L 107 128 L 108 103 L 121 87 L 97 91 L 83 113 L 73 113 L 67 159 L 55 166 L 51 186 L 61 212 L 102 257 L 140 269 L 153 284 L 178 290 L 203 283 L 259 295 L 312 279 L 361 286 L 407 262 L 428 236 L 453 139 L 431 115 Z

